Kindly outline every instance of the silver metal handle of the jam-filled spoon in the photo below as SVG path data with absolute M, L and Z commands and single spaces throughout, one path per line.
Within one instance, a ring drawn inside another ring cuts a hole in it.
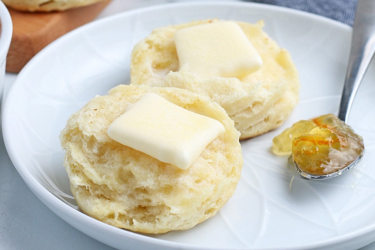
M 375 52 L 375 0 L 358 0 L 339 118 L 347 123 L 354 96 Z

